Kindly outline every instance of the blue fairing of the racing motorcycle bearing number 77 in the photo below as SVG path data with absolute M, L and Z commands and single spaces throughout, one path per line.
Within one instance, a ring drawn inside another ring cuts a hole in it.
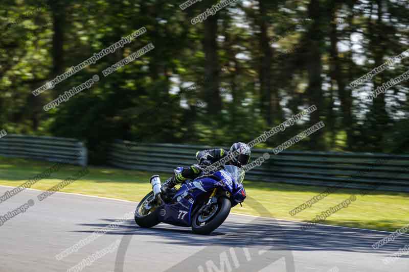
M 180 170 L 181 168 L 178 167 L 175 172 L 177 173 Z M 214 172 L 212 176 L 199 177 L 181 185 L 172 202 L 159 208 L 159 219 L 171 225 L 191 226 L 193 204 L 199 196 L 203 194 L 210 195 L 216 187 L 231 193 L 233 196 L 232 206 L 244 200 L 245 193 L 244 196 L 241 193 L 244 191 L 241 182 L 236 183 L 229 171 L 220 170 Z

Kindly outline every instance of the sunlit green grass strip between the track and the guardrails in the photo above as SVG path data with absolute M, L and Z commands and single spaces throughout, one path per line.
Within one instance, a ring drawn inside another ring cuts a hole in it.
M 0 185 L 21 185 L 53 164 L 0 157 Z M 48 179 L 38 181 L 32 188 L 47 190 L 61 180 L 71 177 L 80 169 L 79 166 L 63 167 Z M 152 174 L 156 173 L 110 167 L 89 167 L 88 175 L 61 191 L 140 201 L 151 190 L 149 177 Z M 168 176 L 169 174 L 162 174 L 162 180 L 167 179 Z M 249 197 L 243 203 L 243 207 L 233 208 L 232 211 L 235 213 L 309 221 L 317 214 L 343 202 L 352 193 L 355 193 L 357 195 L 355 202 L 332 214 L 323 224 L 395 231 L 409 223 L 409 193 L 376 191 L 360 196 L 358 190 L 340 189 L 311 208 L 296 216 L 291 216 L 290 210 L 321 193 L 325 188 L 254 181 L 244 181 L 244 186 Z

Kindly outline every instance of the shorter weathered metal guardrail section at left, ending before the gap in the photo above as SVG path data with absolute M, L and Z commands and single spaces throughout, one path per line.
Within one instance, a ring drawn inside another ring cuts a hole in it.
M 85 145 L 72 138 L 7 134 L 0 139 L 0 156 L 87 165 Z

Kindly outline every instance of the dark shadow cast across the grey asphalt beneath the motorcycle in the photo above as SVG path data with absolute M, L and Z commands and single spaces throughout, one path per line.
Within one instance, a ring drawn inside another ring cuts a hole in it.
M 230 215 L 232 219 L 235 215 Z M 92 233 L 108 227 L 116 219 L 103 218 L 106 224 L 80 224 L 81 226 L 93 227 L 94 230 L 76 231 Z M 390 254 L 399 250 L 404 244 L 409 244 L 409 236 L 402 235 L 395 241 L 382 246 L 378 250 L 372 249 L 372 244 L 386 237 L 389 233 L 355 230 L 331 226 L 315 226 L 307 230 L 300 230 L 302 222 L 280 221 L 276 224 L 274 219 L 261 218 L 249 222 L 226 221 L 221 227 L 208 236 L 192 233 L 190 228 L 175 227 L 160 224 L 151 229 L 140 228 L 134 220 L 124 221 L 118 228 L 107 232 L 107 235 L 144 235 L 162 236 L 166 242 L 160 244 L 197 245 L 197 246 L 270 246 L 271 250 L 293 251 L 346 251 L 361 253 L 384 253 Z M 261 230 L 263 230 L 261 232 Z M 261 235 L 268 235 L 269 240 L 260 239 Z M 258 237 L 259 239 L 254 239 Z M 155 241 L 152 241 L 155 242 Z

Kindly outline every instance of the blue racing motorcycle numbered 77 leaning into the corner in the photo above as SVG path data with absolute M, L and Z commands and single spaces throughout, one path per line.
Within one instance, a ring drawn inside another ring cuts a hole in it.
M 175 174 L 182 169 L 176 168 Z M 153 175 L 152 191 L 138 204 L 135 222 L 144 228 L 164 222 L 191 227 L 197 234 L 209 234 L 224 222 L 232 207 L 244 201 L 244 174 L 239 167 L 224 165 L 208 175 L 187 180 L 178 190 L 173 188 L 166 194 L 162 194 L 160 177 Z

